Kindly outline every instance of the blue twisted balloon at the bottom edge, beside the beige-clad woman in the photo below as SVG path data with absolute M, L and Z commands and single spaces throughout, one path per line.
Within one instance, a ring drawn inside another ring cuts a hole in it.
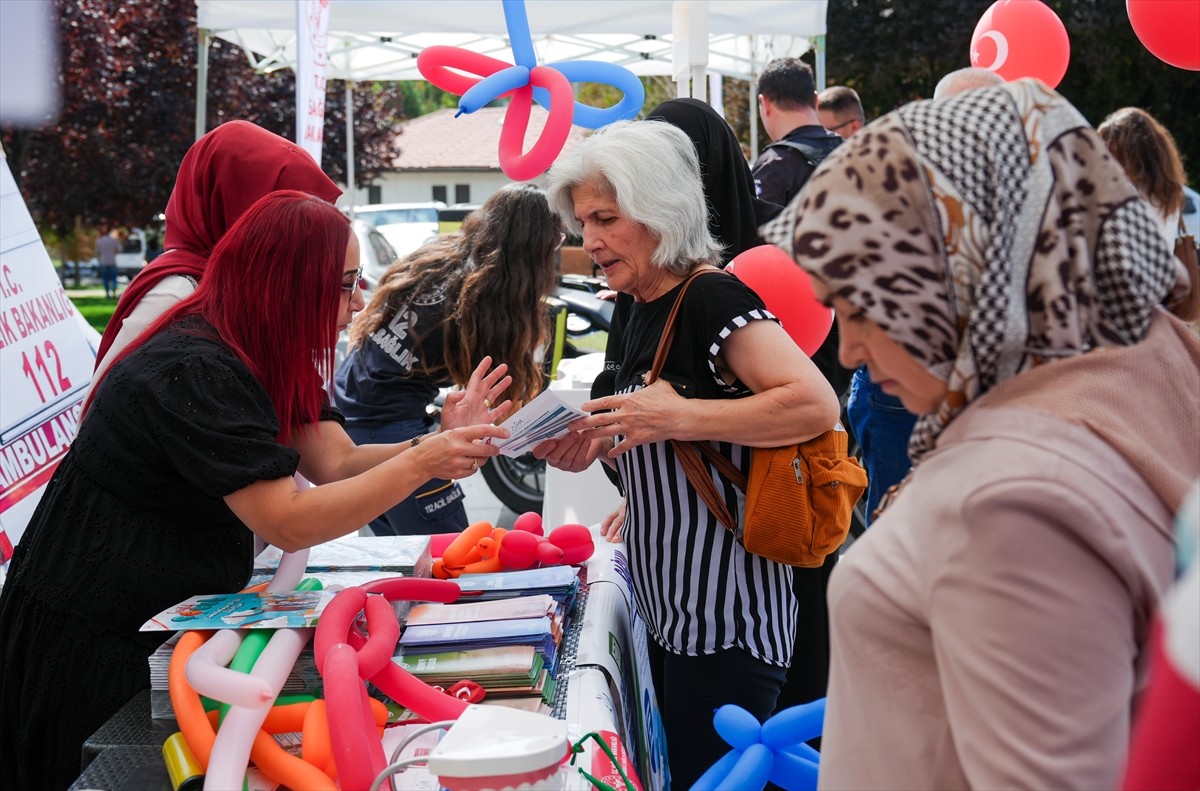
M 826 699 L 792 706 L 762 725 L 740 706 L 722 706 L 713 726 L 733 748 L 691 786 L 691 791 L 761 791 L 774 783 L 787 791 L 817 787 L 821 754 L 805 744 L 821 736 Z

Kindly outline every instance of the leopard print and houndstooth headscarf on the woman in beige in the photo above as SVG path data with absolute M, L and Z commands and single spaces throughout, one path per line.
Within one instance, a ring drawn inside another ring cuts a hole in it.
M 1100 138 L 1036 80 L 884 115 L 761 234 L 947 382 L 914 462 L 1000 382 L 1142 340 L 1182 274 Z

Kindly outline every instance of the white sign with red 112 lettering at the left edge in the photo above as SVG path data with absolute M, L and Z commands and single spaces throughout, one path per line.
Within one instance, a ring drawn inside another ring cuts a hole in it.
M 67 299 L 0 156 L 0 563 L 71 447 L 98 334 Z

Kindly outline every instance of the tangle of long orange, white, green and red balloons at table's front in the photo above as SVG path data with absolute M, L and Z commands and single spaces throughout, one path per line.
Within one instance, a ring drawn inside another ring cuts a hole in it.
M 298 589 L 314 587 L 319 582 L 305 581 Z M 280 574 L 272 588 L 292 589 Z M 400 622 L 390 603 L 450 603 L 461 593 L 449 581 L 390 577 L 340 591 L 316 629 L 184 633 L 172 653 L 168 689 L 180 731 L 204 768 L 205 787 L 242 787 L 251 761 L 290 789 L 370 787 L 386 766 L 382 733 L 388 712 L 367 695 L 367 681 L 430 721 L 455 720 L 468 706 L 391 661 Z M 355 625 L 360 618 L 365 636 Z M 325 697 L 281 697 L 310 640 Z M 200 695 L 218 701 L 220 708 L 206 712 Z M 299 756 L 272 737 L 293 732 L 302 735 Z

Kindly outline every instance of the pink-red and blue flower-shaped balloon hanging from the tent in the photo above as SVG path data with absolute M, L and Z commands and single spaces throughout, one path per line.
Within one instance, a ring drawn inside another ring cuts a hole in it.
M 504 24 L 515 65 L 469 49 L 438 46 L 421 50 L 416 68 L 442 90 L 461 96 L 458 114 L 474 113 L 497 98 L 511 100 L 504 113 L 499 146 L 500 169 L 510 179 L 528 181 L 550 169 L 566 143 L 571 124 L 598 128 L 636 118 L 642 109 L 646 89 L 637 76 L 623 66 L 599 60 L 539 66 L 524 0 L 504 0 Z M 571 83 L 602 83 L 619 89 L 624 96 L 612 107 L 589 107 L 575 101 Z M 546 126 L 533 146 L 522 154 L 534 102 L 546 108 Z

